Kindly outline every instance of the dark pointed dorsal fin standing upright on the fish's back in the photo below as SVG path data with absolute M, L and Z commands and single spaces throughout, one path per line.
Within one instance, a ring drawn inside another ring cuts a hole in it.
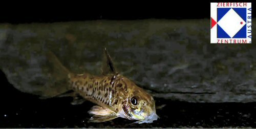
M 117 74 L 109 52 L 106 50 L 106 48 L 104 48 L 103 51 L 104 51 L 104 57 L 103 57 L 102 68 L 101 68 L 102 74 L 103 75 Z

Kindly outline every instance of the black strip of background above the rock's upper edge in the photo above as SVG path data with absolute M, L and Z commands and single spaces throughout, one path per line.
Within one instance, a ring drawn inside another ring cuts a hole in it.
M 241 1 L 126 1 L 123 3 L 98 1 L 94 3 L 37 3 L 35 5 L 28 3 L 25 6 L 3 6 L 0 23 L 52 23 L 97 19 L 201 19 L 210 18 L 210 2 Z M 251 2 L 255 7 L 254 1 L 243 2 Z M 252 17 L 255 17 L 254 13 Z

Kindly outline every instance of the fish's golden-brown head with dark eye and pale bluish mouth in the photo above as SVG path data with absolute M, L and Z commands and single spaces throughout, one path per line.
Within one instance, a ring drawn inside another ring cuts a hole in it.
M 124 79 L 130 88 L 122 102 L 121 117 L 138 120 L 134 123 L 152 123 L 158 119 L 154 98 L 129 79 Z

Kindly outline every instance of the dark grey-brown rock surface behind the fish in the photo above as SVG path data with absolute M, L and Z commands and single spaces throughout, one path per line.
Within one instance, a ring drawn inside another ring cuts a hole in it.
M 47 50 L 74 73 L 100 74 L 106 47 L 119 73 L 157 98 L 254 102 L 255 44 L 210 44 L 209 19 L 2 24 L 0 69 L 16 89 L 53 96 L 66 89 L 56 87 Z

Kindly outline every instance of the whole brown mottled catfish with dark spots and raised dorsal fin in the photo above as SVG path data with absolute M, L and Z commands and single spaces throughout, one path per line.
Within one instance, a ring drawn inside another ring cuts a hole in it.
M 73 74 L 63 67 L 57 57 L 48 53 L 48 59 L 55 68 L 65 73 L 70 83 L 73 104 L 89 100 L 97 105 L 88 112 L 90 122 L 104 122 L 118 117 L 138 120 L 135 123 L 152 123 L 158 119 L 153 97 L 139 88 L 130 79 L 118 74 L 109 53 L 104 49 L 105 67 L 101 76 Z M 82 99 L 78 99 L 79 95 Z

